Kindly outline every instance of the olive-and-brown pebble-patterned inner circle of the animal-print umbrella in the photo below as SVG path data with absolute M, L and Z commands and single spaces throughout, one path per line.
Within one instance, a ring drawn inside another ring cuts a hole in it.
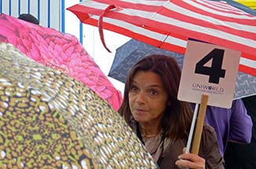
M 42 95 L 0 79 L 0 108 L 0 161 L 6 167 L 97 168 L 76 132 Z

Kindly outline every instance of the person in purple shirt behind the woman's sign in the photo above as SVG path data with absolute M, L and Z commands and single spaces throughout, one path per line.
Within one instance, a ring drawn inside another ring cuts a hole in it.
M 192 109 L 195 104 L 191 104 Z M 252 120 L 247 115 L 247 108 L 241 99 L 232 101 L 231 108 L 219 108 L 207 106 L 206 123 L 214 128 L 220 147 L 221 156 L 228 144 L 234 141 L 241 144 L 249 144 L 251 138 Z

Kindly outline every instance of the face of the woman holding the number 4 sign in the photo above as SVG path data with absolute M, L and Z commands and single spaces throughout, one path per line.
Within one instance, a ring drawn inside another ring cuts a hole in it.
M 150 125 L 160 122 L 168 97 L 158 74 L 137 72 L 128 97 L 129 106 L 136 121 Z

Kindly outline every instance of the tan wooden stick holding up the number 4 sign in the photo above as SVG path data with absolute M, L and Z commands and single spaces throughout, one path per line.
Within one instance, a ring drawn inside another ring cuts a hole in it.
M 201 104 L 198 112 L 198 119 L 195 125 L 195 134 L 194 134 L 192 145 L 191 145 L 191 152 L 197 155 L 198 155 L 199 146 L 202 138 L 202 127 L 205 121 L 208 98 L 209 98 L 208 95 L 202 94 L 202 100 L 201 100 Z

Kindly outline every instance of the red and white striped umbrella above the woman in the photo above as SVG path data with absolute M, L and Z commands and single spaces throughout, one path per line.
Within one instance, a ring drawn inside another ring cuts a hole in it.
M 86 0 L 68 9 L 84 24 L 177 53 L 185 52 L 188 38 L 239 50 L 239 71 L 256 75 L 256 17 L 227 3 Z

